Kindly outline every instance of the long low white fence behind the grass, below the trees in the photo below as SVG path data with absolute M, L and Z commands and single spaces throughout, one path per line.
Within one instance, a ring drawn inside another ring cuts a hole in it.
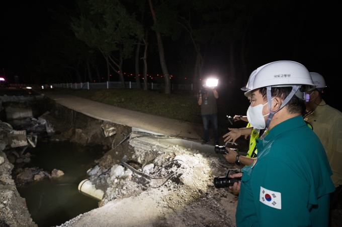
M 125 82 L 126 88 L 137 88 L 135 82 Z M 105 83 L 67 83 L 67 84 L 53 84 L 56 88 L 71 88 L 71 89 L 109 89 L 109 88 L 122 88 L 121 82 L 105 82 Z M 141 87 L 144 84 L 141 83 Z M 147 83 L 147 89 L 163 90 L 163 84 Z M 172 84 L 172 90 L 193 90 L 193 84 Z

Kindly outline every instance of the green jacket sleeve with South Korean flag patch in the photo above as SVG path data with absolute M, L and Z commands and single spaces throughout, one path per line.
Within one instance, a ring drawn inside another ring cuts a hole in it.
M 257 164 L 250 181 L 259 225 L 311 226 L 307 207 L 310 185 L 303 172 L 289 161 L 271 157 L 259 159 Z

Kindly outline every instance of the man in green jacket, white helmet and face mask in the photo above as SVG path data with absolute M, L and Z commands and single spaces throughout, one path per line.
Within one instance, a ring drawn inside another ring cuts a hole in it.
M 285 74 L 286 73 L 286 74 Z M 286 75 L 286 77 L 285 77 Z M 298 89 L 314 86 L 307 69 L 278 61 L 258 68 L 247 116 L 255 128 L 267 128 L 257 139 L 258 157 L 244 167 L 233 189 L 240 189 L 236 226 L 327 226 L 329 193 L 334 191 L 324 148 L 306 126 Z

